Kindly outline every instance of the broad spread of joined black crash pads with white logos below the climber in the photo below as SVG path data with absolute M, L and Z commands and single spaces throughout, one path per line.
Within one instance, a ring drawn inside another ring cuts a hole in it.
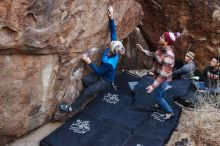
M 152 81 L 150 78 L 147 80 Z M 40 142 L 40 145 L 164 145 L 178 124 L 181 108 L 172 105 L 176 115 L 174 118 L 164 122 L 158 120 L 159 118 L 155 114 L 155 111 L 147 110 L 143 112 L 133 110 L 132 101 L 134 98 L 137 101 L 138 99 L 145 99 L 145 101 L 139 102 L 143 107 L 148 107 L 154 102 L 152 95 L 143 94 L 146 93 L 144 89 L 146 80 L 143 80 L 143 78 L 136 86 L 136 89 L 138 89 L 135 91 L 136 95 L 132 97 L 133 94 L 129 82 L 137 81 L 139 81 L 137 76 L 123 72 L 117 77 L 115 82 L 117 91 L 111 88 L 100 93 L 84 111 L 81 111 L 60 128 L 45 137 Z M 117 101 L 114 94 L 118 95 L 119 101 Z M 109 100 L 104 99 L 108 96 L 112 98 Z M 151 100 L 146 96 L 149 96 Z M 116 103 L 113 104 L 114 102 Z

